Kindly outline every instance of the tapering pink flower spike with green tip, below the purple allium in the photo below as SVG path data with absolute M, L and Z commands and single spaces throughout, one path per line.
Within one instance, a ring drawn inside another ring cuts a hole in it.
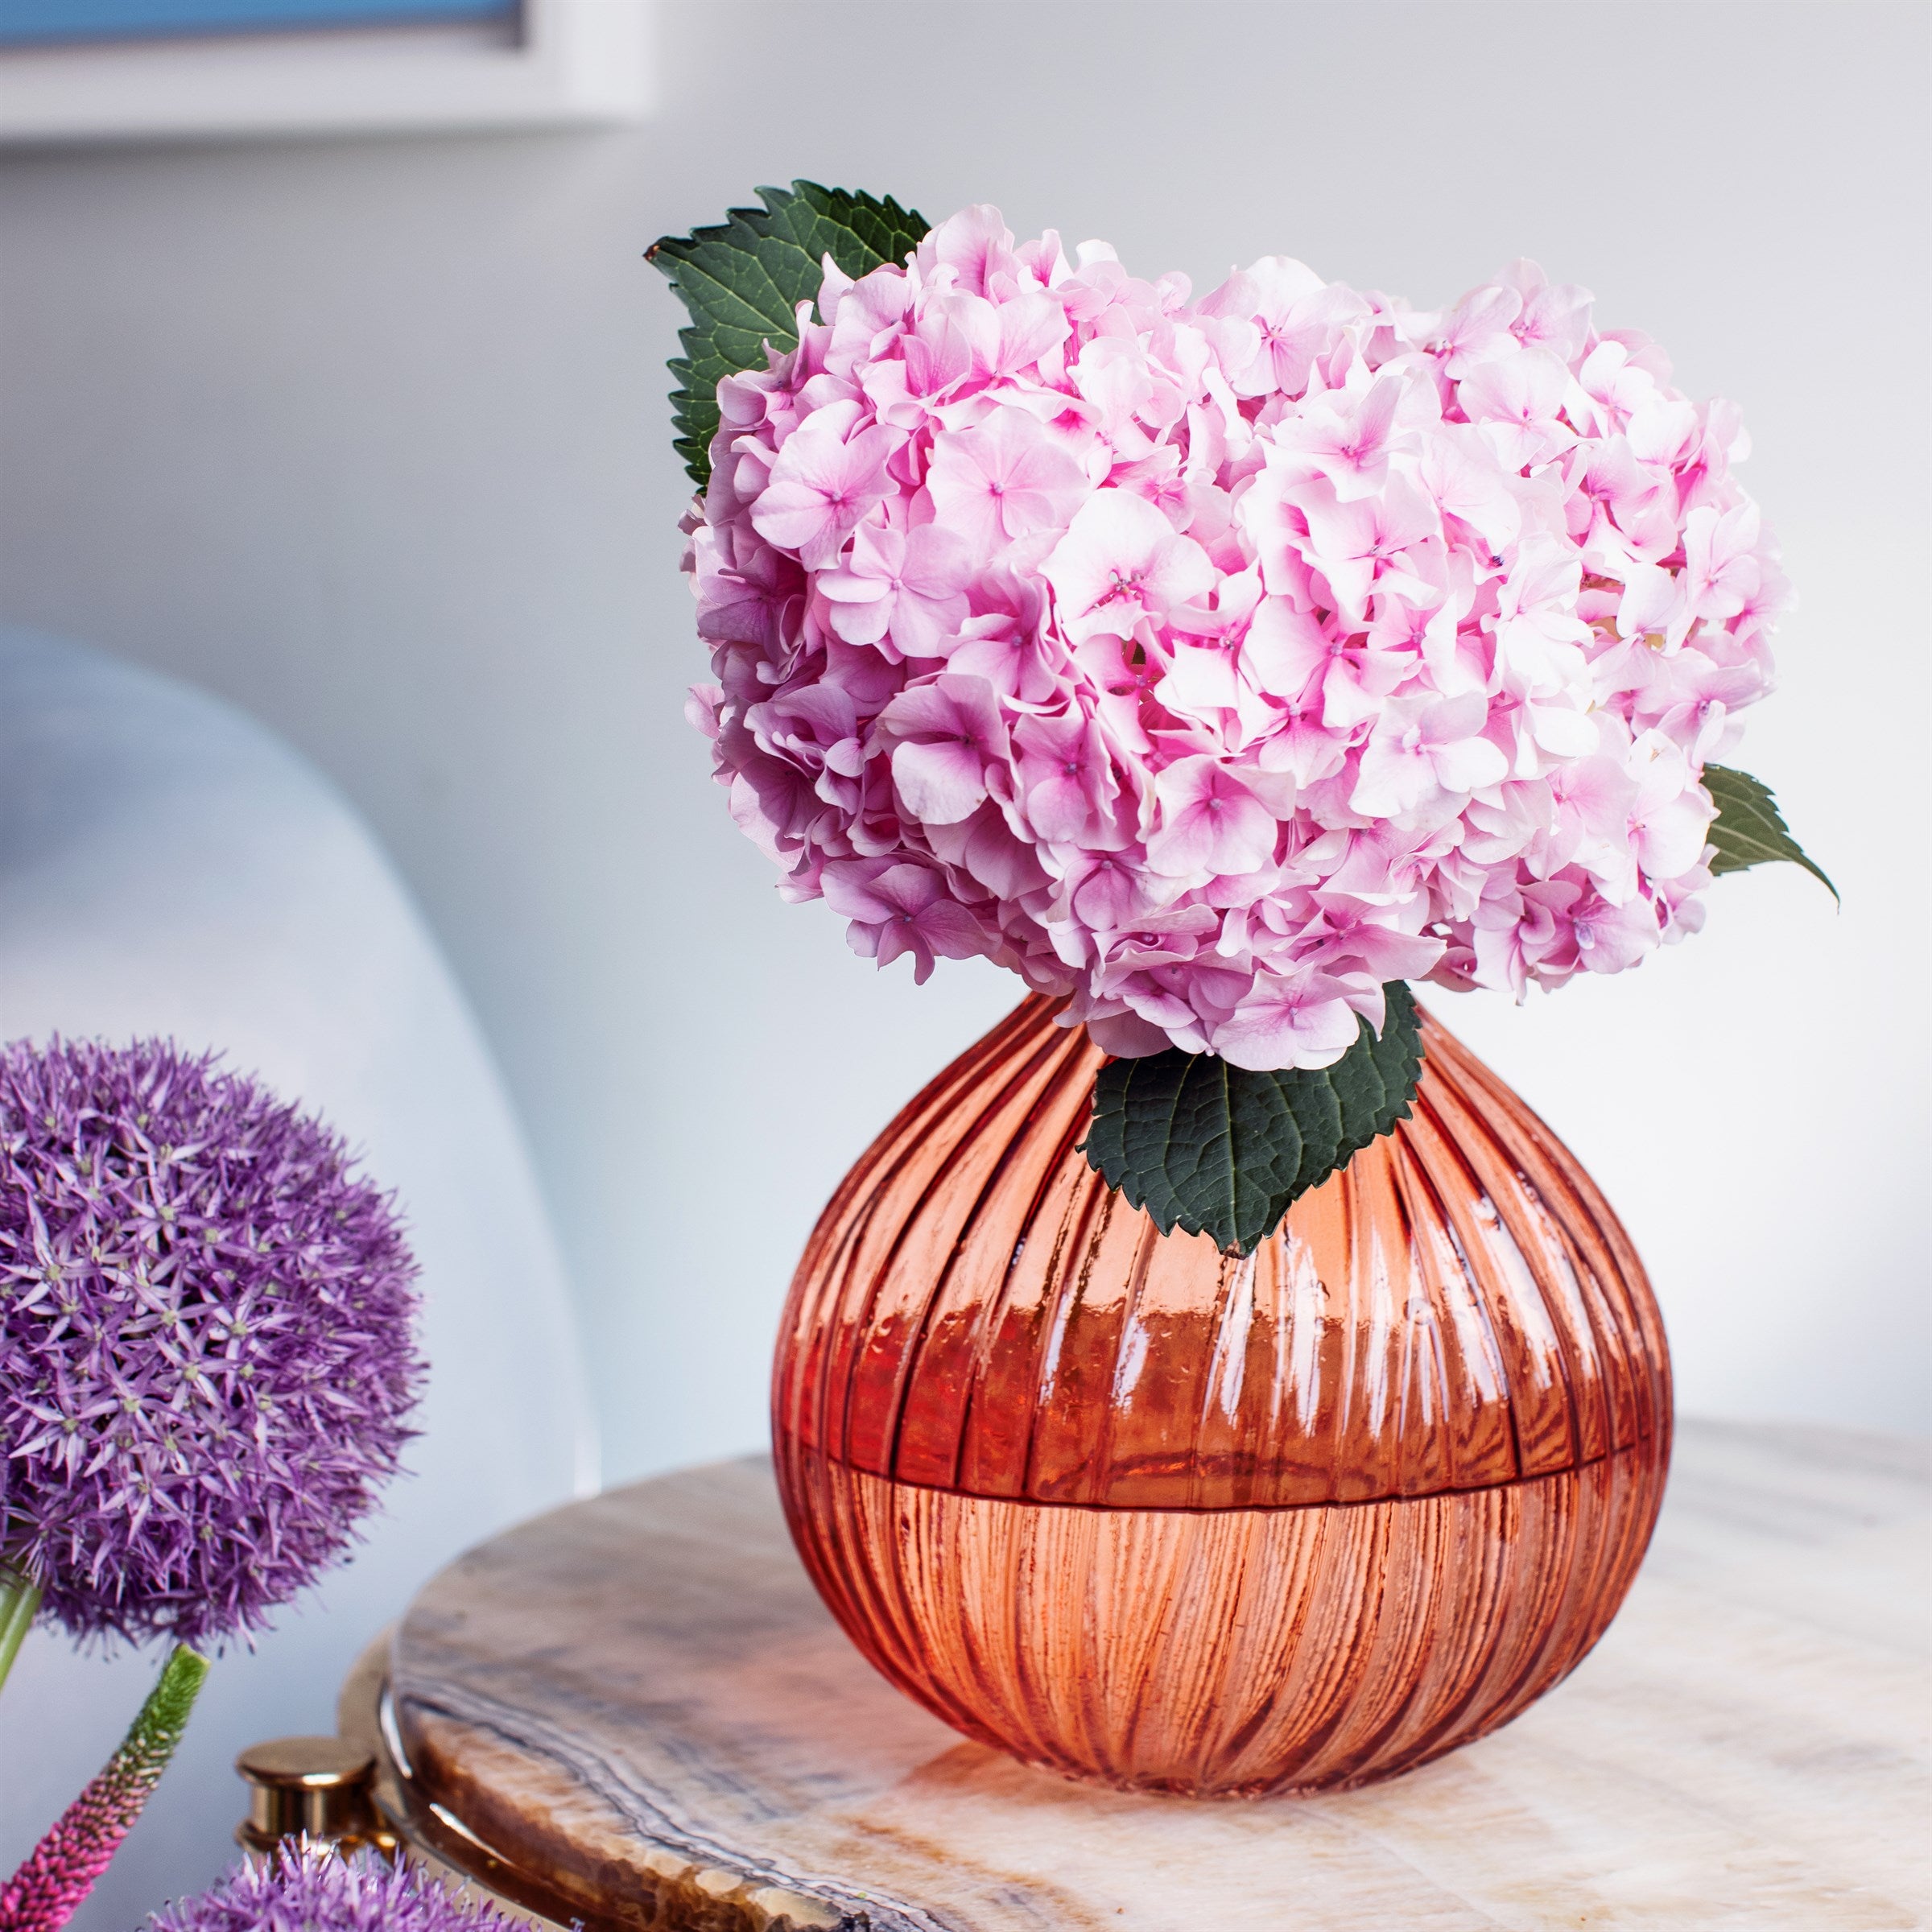
M 120 1750 L 0 1886 L 0 1932 L 60 1932 L 73 1917 L 160 1783 L 207 1675 L 207 1658 L 176 1644 Z

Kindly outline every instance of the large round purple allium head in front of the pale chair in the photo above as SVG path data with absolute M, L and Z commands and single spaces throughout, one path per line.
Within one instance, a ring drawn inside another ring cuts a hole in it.
M 213 1055 L 0 1051 L 0 1561 L 75 1636 L 261 1629 L 396 1472 L 413 1277 L 342 1138 Z

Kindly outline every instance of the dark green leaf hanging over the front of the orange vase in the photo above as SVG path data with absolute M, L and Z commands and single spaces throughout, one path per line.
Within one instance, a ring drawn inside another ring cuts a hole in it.
M 1094 1082 L 1088 1163 L 1163 1235 L 1211 1235 L 1252 1254 L 1289 1208 L 1408 1115 L 1422 1024 L 1408 987 L 1383 987 L 1378 1036 L 1364 1020 L 1333 1065 L 1258 1074 L 1179 1047 L 1109 1061 Z

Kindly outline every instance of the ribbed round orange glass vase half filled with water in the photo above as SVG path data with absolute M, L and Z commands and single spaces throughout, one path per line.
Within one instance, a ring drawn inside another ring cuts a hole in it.
M 1088 1167 L 1103 1055 L 1043 999 L 873 1142 L 773 1397 L 798 1549 L 893 1683 L 1076 1777 L 1306 1791 L 1596 1642 L 1663 1492 L 1663 1329 L 1575 1157 L 1424 1051 L 1412 1117 L 1244 1260 Z

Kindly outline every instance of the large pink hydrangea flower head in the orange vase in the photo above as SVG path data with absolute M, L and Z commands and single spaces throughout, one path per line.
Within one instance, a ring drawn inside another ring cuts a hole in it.
M 719 386 L 694 717 L 860 952 L 1275 1068 L 1385 980 L 1696 929 L 1785 583 L 1735 410 L 1582 290 L 1418 313 L 1271 257 L 1190 303 L 968 209 L 817 311 Z

